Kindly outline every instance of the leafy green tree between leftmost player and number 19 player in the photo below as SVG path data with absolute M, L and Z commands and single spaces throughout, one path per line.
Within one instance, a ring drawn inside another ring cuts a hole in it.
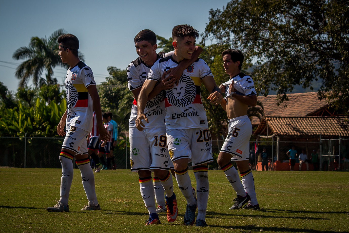
M 97 86 L 102 111 L 113 113 L 113 119 L 118 123 L 119 132 L 128 131 L 133 95 L 127 88 L 126 70 L 120 70 L 114 66 L 107 69 L 110 76 Z

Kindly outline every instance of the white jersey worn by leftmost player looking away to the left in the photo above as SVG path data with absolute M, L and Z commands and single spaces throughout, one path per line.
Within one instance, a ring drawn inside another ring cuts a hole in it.
M 67 92 L 67 125 L 85 131 L 92 130 L 93 102 L 87 87 L 96 85 L 90 67 L 80 61 L 73 68 L 68 68 L 65 86 Z

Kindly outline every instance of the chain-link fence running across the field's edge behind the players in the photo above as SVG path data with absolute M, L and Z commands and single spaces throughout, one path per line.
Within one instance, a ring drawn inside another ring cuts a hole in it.
M 0 146 L 2 148 L 0 166 L 60 168 L 61 163 L 59 162 L 58 156 L 62 143 L 63 138 L 0 137 Z M 210 169 L 219 169 L 217 157 L 223 143 L 223 140 L 212 141 L 212 154 L 215 160 L 209 164 Z M 298 155 L 304 150 L 308 156 L 309 162 L 311 162 L 310 155 L 313 150 L 315 150 L 319 155 L 319 167 L 317 169 L 349 169 L 349 139 L 321 139 L 320 142 L 276 141 L 271 139 L 265 141 L 250 141 L 250 163 L 254 166 L 261 166 L 261 153 L 263 148 L 266 148 L 269 169 L 273 170 L 273 166 L 277 160 L 283 163 L 289 163 L 289 158 L 286 153 L 292 146 L 295 146 Z M 130 168 L 128 138 L 127 140 L 118 139 L 113 155 L 117 169 Z M 257 167 L 255 167 L 255 169 L 257 169 Z

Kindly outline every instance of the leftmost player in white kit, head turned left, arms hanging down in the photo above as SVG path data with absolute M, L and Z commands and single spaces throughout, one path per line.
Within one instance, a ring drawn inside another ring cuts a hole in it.
M 53 207 L 47 207 L 49 212 L 69 212 L 68 198 L 73 180 L 73 158 L 79 167 L 82 185 L 86 192 L 88 204 L 81 210 L 100 210 L 95 191 L 95 177 L 89 163 L 86 136 L 92 130 L 92 112 L 96 111 L 97 127 L 103 140 L 110 135 L 102 123 L 101 103 L 90 67 L 80 61 L 77 50 L 79 40 L 72 34 L 58 37 L 58 55 L 62 63 L 67 63 L 66 92 L 67 110 L 62 116 L 57 133 L 65 136 L 59 160 L 62 164 L 60 199 Z M 64 128 L 66 125 L 66 132 Z

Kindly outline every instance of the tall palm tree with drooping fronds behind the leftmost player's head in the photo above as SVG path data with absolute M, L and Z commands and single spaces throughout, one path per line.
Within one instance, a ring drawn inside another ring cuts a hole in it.
M 28 47 L 21 47 L 13 53 L 13 59 L 28 58 L 17 67 L 15 73 L 16 78 L 20 80 L 20 87 L 24 87 L 31 77 L 35 87 L 57 84 L 57 79 L 52 77 L 53 68 L 56 66 L 67 68 L 58 56 L 57 42 L 58 37 L 65 33 L 64 29 L 59 29 L 53 32 L 49 39 L 32 37 Z M 79 53 L 79 58 L 83 60 L 83 54 Z M 46 70 L 46 79 L 41 77 L 43 70 Z

